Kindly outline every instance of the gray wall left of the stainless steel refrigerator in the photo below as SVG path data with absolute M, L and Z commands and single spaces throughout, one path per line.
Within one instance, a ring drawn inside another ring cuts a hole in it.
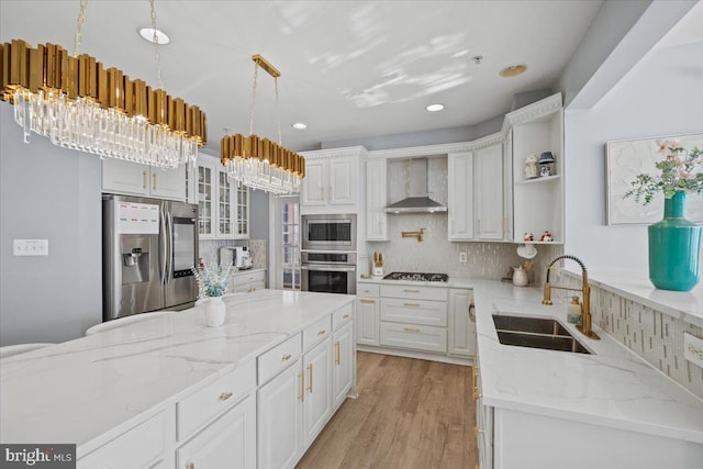
M 101 322 L 100 158 L 32 135 L 0 103 L 0 345 L 64 342 Z M 15 257 L 13 239 L 48 239 Z

